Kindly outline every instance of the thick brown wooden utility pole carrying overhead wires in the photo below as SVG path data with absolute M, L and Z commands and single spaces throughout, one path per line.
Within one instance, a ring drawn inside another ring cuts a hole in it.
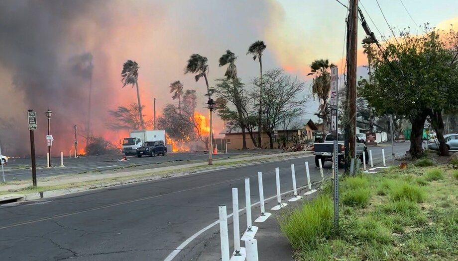
M 350 0 L 348 13 L 347 50 L 347 97 L 348 97 L 348 150 L 351 158 L 356 158 L 356 58 L 358 44 L 358 0 Z

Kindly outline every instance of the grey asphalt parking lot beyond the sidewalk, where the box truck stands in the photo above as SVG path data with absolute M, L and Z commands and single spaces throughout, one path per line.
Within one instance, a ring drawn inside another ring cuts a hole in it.
M 242 154 L 270 154 L 282 152 L 282 150 L 234 150 L 228 154 L 213 155 L 214 159 L 228 158 Z M 37 158 L 37 177 L 50 177 L 64 174 L 77 174 L 86 171 L 101 170 L 109 172 L 122 166 L 135 165 L 129 170 L 141 170 L 150 168 L 166 167 L 171 165 L 183 165 L 196 163 L 208 159 L 208 154 L 203 152 L 180 152 L 168 153 L 166 156 L 137 158 L 128 156 L 126 161 L 119 161 L 123 155 L 105 156 L 82 156 L 79 158 L 64 157 L 65 167 L 61 168 L 61 158 L 52 158 L 54 167 L 46 168 L 46 158 Z M 5 180 L 30 180 L 32 179 L 31 162 L 29 158 L 9 159 L 4 167 Z M 1 175 L 1 173 L 0 173 Z

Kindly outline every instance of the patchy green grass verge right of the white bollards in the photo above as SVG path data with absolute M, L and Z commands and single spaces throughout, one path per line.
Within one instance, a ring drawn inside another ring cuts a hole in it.
M 323 215 L 333 211 L 330 183 L 319 203 L 283 213 L 294 260 L 457 261 L 458 170 L 420 165 L 343 178 L 339 233 Z

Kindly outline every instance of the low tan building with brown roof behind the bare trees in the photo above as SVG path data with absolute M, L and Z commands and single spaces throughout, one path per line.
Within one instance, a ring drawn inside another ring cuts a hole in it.
M 283 148 L 291 146 L 295 143 L 304 142 L 306 140 L 313 140 L 315 131 L 317 131 L 315 123 L 306 119 L 290 124 L 286 128 L 278 128 L 276 133 L 272 135 L 274 148 Z M 228 143 L 228 149 L 241 149 L 243 146 L 243 138 L 240 129 L 228 130 L 224 129 L 220 134 L 225 135 L 225 139 Z M 253 137 L 257 141 L 258 131 L 253 131 Z M 246 147 L 248 149 L 254 148 L 253 141 L 248 131 L 245 133 Z M 262 146 L 268 148 L 270 146 L 269 136 L 266 132 L 262 133 Z

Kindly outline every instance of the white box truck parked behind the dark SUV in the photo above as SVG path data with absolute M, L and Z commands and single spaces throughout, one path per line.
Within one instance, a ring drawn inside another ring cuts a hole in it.
M 122 153 L 124 155 L 136 155 L 137 148 L 141 147 L 145 141 L 162 140 L 165 143 L 165 131 L 131 131 L 128 138 L 122 141 Z

